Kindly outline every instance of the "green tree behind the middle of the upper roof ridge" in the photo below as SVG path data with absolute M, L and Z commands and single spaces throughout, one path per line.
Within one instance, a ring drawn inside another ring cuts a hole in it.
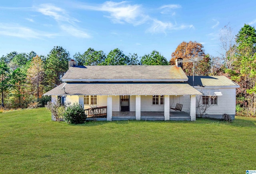
M 129 65 L 130 60 L 120 49 L 111 50 L 102 65 Z

